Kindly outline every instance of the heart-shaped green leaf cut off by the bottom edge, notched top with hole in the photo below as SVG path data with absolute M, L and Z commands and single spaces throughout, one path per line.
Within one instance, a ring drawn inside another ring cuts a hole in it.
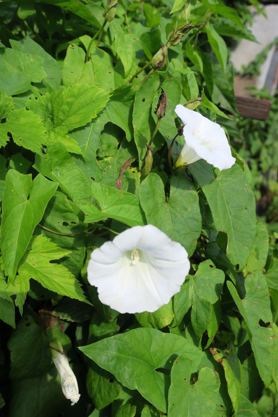
M 220 379 L 217 372 L 204 367 L 198 374 L 197 382 L 190 383 L 190 377 L 197 369 L 184 354 L 174 360 L 169 388 L 169 417 L 212 417 L 215 412 Z

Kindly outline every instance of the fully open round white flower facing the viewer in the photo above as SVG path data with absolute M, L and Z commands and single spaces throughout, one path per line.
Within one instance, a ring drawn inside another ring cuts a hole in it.
M 135 226 L 91 253 L 88 281 L 103 304 L 120 313 L 156 311 L 180 290 L 187 251 L 157 227 Z

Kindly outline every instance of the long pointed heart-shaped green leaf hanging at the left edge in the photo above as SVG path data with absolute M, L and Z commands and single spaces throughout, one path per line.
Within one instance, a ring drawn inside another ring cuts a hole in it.
M 22 175 L 14 169 L 6 176 L 0 243 L 12 283 L 35 226 L 58 186 L 40 174 L 33 181 L 31 178 L 31 174 Z

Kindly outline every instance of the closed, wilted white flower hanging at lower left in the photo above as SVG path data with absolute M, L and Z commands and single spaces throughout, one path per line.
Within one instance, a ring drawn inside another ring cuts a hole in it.
M 58 339 L 53 339 L 49 344 L 52 354 L 52 360 L 61 377 L 61 385 L 64 396 L 71 400 L 71 405 L 78 402 L 80 394 L 76 377 L 69 366 L 68 359 L 63 352 L 63 347 Z

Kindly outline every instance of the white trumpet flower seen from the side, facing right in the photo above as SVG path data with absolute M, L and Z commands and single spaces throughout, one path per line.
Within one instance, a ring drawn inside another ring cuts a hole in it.
M 197 111 L 178 104 L 175 112 L 184 123 L 185 144 L 175 166 L 188 165 L 205 159 L 207 163 L 222 169 L 235 163 L 224 129 Z

